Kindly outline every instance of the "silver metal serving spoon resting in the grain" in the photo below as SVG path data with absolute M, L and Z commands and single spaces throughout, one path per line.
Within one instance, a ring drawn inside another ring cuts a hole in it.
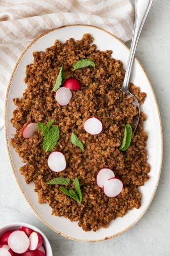
M 134 121 L 132 124 L 133 132 L 136 130 L 136 128 L 138 126 L 139 117 L 140 117 L 140 106 L 139 106 L 139 102 L 136 99 L 136 97 L 132 93 L 129 92 L 129 89 L 128 89 L 129 78 L 130 78 L 134 54 L 135 54 L 136 47 L 138 44 L 139 36 L 141 34 L 145 20 L 148 16 L 152 1 L 153 0 L 136 0 L 135 1 L 135 21 L 134 21 L 134 28 L 133 28 L 133 36 L 132 36 L 130 52 L 129 52 L 128 61 L 127 61 L 127 69 L 126 69 L 126 73 L 125 73 L 125 78 L 124 78 L 124 82 L 123 82 L 123 85 L 121 88 L 121 91 L 126 92 L 128 97 L 133 98 L 133 104 L 136 105 L 138 108 L 138 115 L 134 118 Z

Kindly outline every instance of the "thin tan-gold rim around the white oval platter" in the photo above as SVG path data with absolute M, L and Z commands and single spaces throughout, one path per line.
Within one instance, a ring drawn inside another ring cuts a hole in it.
M 23 57 L 23 55 L 25 54 L 25 52 L 33 45 L 35 44 L 41 37 L 43 37 L 44 35 L 54 31 L 54 30 L 58 30 L 58 29 L 61 29 L 61 28 L 64 28 L 64 27 L 67 27 L 67 26 L 89 26 L 89 27 L 94 27 L 94 28 L 97 28 L 99 30 L 102 30 L 104 32 L 106 32 L 107 34 L 111 35 L 112 37 L 116 38 L 121 44 L 123 44 L 128 50 L 129 48 L 125 45 L 125 43 L 119 39 L 117 36 L 111 34 L 110 32 L 106 31 L 105 29 L 103 28 L 100 28 L 98 26 L 92 26 L 92 25 L 82 25 L 82 24 L 77 24 L 77 25 L 66 25 L 66 26 L 60 26 L 60 27 L 57 27 L 57 28 L 53 28 L 53 29 L 50 29 L 50 30 L 47 30 L 45 32 L 43 32 L 41 35 L 39 35 L 38 37 L 36 37 L 26 48 L 24 51 L 22 51 L 21 53 L 21 56 L 19 57 L 17 63 L 15 64 L 15 67 L 13 69 L 13 72 L 12 72 L 12 75 L 10 77 L 10 80 L 9 80 L 9 83 L 8 83 L 8 87 L 7 87 L 7 92 L 6 92 L 6 99 L 5 99 L 5 116 L 4 116 L 4 120 L 5 120 L 5 123 L 4 123 L 4 129 L 5 129 L 5 142 L 6 142 L 6 146 L 7 146 L 7 152 L 8 152 L 8 156 L 9 156 L 9 160 L 10 160 L 10 164 L 11 164 L 11 167 L 12 167 L 12 170 L 13 170 L 13 173 L 14 173 L 14 176 L 15 176 L 15 179 L 20 187 L 20 190 L 21 190 L 21 193 L 23 194 L 24 198 L 26 199 L 28 205 L 32 208 L 32 210 L 34 211 L 34 213 L 38 216 L 38 218 L 43 222 L 43 224 L 45 224 L 48 228 L 50 228 L 51 230 L 55 231 L 56 233 L 66 237 L 66 238 L 69 238 L 69 239 L 72 239 L 72 240 L 76 240 L 76 241 L 85 241 L 85 242 L 99 242 L 99 241 L 105 241 L 107 239 L 110 239 L 110 238 L 113 238 L 119 234 L 122 234 L 124 232 L 126 232 L 127 230 L 131 229 L 141 218 L 142 216 L 146 213 L 146 211 L 148 210 L 149 208 L 149 205 L 151 203 L 151 201 L 153 200 L 153 197 L 155 195 L 155 192 L 156 192 L 156 189 L 157 189 L 157 186 L 158 186 L 158 183 L 159 183 L 159 179 L 160 179 L 160 174 L 161 174 L 161 168 L 162 168 L 162 158 L 163 158 L 163 134 L 162 134 L 162 123 L 161 123 L 161 117 L 160 117 L 160 111 L 159 111 L 159 107 L 158 107 L 158 103 L 157 103 L 157 100 L 156 100 L 156 97 L 155 97 L 155 93 L 153 91 L 153 88 L 152 88 L 152 85 L 149 81 L 149 77 L 148 75 L 146 74 L 142 64 L 140 63 L 140 61 L 135 58 L 138 62 L 138 64 L 141 66 L 143 72 L 145 73 L 145 76 L 147 77 L 148 79 L 148 82 L 149 82 L 149 86 L 150 86 L 150 89 L 152 91 L 152 94 L 154 96 L 154 100 L 156 102 L 156 107 L 157 107 L 157 112 L 158 112 L 158 115 L 159 115 L 159 121 L 160 121 L 160 130 L 161 130 L 161 161 L 160 161 L 160 168 L 159 168 L 159 174 L 158 174 L 158 179 L 157 179 L 157 183 L 155 185 L 155 188 L 154 188 L 154 191 L 152 193 L 152 196 L 149 200 L 149 203 L 147 204 L 147 206 L 145 207 L 145 209 L 143 210 L 143 212 L 139 215 L 139 217 L 131 224 L 129 225 L 126 229 L 112 235 L 112 236 L 108 236 L 108 237 L 105 237 L 104 239 L 98 239 L 98 240 L 85 240 L 85 239 L 76 239 L 76 238 L 73 238 L 73 237 L 70 237 L 58 230 L 56 230 L 54 227 L 52 227 L 51 225 L 49 225 L 44 219 L 43 217 L 41 217 L 39 215 L 39 213 L 37 212 L 37 210 L 34 208 L 34 206 L 29 202 L 27 196 L 25 195 L 22 187 L 21 187 L 21 184 L 20 184 L 20 181 L 19 179 L 17 178 L 17 175 L 16 175 L 16 172 L 15 172 L 15 169 L 14 169 L 14 166 L 13 166 L 13 163 L 12 163 L 12 159 L 11 159 L 11 154 L 10 154 L 10 151 L 9 151 L 9 143 L 8 143 L 8 137 L 7 137 L 7 102 L 8 102 L 8 95 L 9 95 L 9 91 L 10 91 L 10 87 L 11 87 L 11 84 L 12 84 L 12 80 L 13 80 L 13 77 L 14 77 L 14 74 L 15 74 L 15 71 L 19 65 L 19 63 L 21 62 L 21 59 Z

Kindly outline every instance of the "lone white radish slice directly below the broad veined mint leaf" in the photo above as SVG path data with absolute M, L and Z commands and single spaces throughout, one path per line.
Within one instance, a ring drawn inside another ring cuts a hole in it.
M 62 172 L 66 167 L 64 154 L 60 151 L 53 151 L 48 157 L 48 166 L 53 172 Z

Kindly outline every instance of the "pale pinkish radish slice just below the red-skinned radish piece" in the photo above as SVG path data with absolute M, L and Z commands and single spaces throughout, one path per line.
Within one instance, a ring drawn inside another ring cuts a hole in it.
M 56 92 L 56 101 L 61 105 L 61 106 L 65 106 L 67 105 L 72 97 L 72 93 L 70 91 L 70 89 L 66 88 L 66 87 L 60 87 L 57 92 Z

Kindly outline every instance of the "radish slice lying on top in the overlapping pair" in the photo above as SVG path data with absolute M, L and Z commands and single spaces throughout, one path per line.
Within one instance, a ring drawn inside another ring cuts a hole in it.
M 112 178 L 105 182 L 103 190 L 107 197 L 118 196 L 123 189 L 122 180 L 118 178 Z

